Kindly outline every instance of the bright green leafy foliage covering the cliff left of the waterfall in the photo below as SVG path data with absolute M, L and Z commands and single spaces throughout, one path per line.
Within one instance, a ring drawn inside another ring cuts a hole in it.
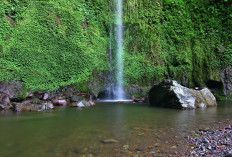
M 109 8 L 99 1 L 4 0 L 0 8 L 1 80 L 54 90 L 108 69 L 107 21 L 99 19 Z

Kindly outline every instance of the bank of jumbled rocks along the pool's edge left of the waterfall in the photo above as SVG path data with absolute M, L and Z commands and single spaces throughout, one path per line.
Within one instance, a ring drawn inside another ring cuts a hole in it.
M 63 106 L 89 107 L 95 105 L 89 93 L 75 91 L 74 86 L 63 87 L 54 92 L 24 91 L 19 82 L 0 82 L 0 110 L 44 111 Z

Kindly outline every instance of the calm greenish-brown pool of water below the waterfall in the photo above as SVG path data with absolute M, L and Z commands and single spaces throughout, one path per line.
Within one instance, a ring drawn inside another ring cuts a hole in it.
M 197 110 L 98 103 L 48 112 L 0 112 L 1 157 L 163 156 L 199 128 L 231 122 L 232 103 Z M 113 138 L 118 143 L 104 144 Z M 176 148 L 177 147 L 177 148 Z M 143 154 L 143 155 L 142 155 Z

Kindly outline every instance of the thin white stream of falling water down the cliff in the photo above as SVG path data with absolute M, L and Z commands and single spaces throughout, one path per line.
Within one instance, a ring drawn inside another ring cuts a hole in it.
M 123 0 L 116 0 L 116 68 L 116 99 L 123 100 Z

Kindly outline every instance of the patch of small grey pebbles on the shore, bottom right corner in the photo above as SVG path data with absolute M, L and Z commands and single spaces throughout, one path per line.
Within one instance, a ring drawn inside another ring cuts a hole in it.
M 232 124 L 217 130 L 200 129 L 188 140 L 192 144 L 192 156 L 232 157 Z

